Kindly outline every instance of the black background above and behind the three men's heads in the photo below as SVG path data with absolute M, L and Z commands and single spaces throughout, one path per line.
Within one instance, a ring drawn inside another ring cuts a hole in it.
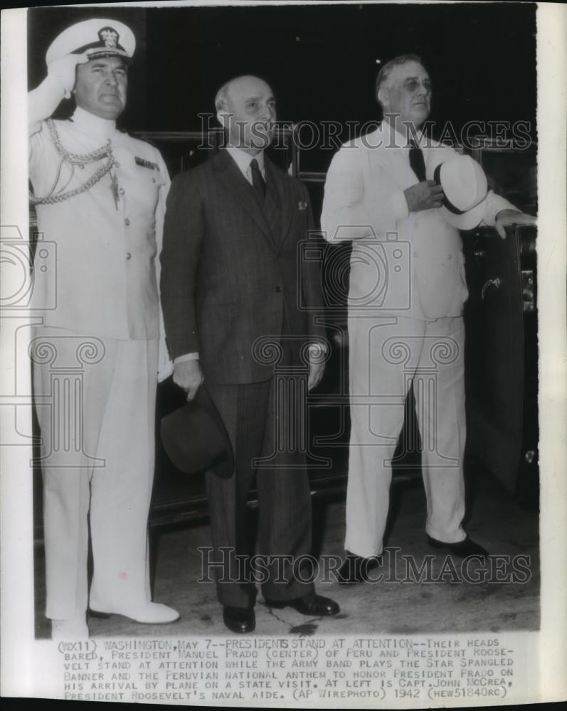
M 412 52 L 432 77 L 438 126 L 521 120 L 535 139 L 535 12 L 516 3 L 36 8 L 28 79 L 43 80 L 46 50 L 70 23 L 116 18 L 137 38 L 120 121 L 131 131 L 201 129 L 198 113 L 213 112 L 218 87 L 242 73 L 270 82 L 279 119 L 366 122 L 380 118 L 376 59 Z

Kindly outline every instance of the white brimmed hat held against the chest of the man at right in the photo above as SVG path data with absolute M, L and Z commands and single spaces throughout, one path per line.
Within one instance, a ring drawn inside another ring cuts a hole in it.
M 470 156 L 456 156 L 441 163 L 433 173 L 435 183 L 443 188 L 439 213 L 457 230 L 472 230 L 484 215 L 487 176 Z

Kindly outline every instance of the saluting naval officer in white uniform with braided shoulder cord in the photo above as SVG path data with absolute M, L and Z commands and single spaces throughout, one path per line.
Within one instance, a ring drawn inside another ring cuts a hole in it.
M 32 202 L 57 250 L 56 278 L 33 294 L 42 324 L 30 346 L 53 638 L 88 636 L 88 605 L 142 623 L 179 618 L 149 591 L 157 257 L 169 176 L 157 149 L 116 129 L 134 46 L 120 22 L 77 23 L 51 44 L 46 80 L 28 97 Z M 73 116 L 50 119 L 71 94 Z M 38 244 L 36 271 L 46 251 Z

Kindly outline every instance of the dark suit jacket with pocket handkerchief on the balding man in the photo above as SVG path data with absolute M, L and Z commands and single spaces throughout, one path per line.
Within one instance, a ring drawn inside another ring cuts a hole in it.
M 282 328 L 294 337 L 295 363 L 302 343 L 324 336 L 319 263 L 302 257 L 307 190 L 267 158 L 265 170 L 263 206 L 224 150 L 169 191 L 161 252 L 169 353 L 198 351 L 208 383 L 270 378 L 273 363 L 259 363 L 253 345 Z

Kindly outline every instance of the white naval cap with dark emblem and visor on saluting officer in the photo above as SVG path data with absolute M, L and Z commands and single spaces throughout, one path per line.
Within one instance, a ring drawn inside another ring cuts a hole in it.
M 75 23 L 49 46 L 46 63 L 49 66 L 57 59 L 69 54 L 87 53 L 95 57 L 132 58 L 136 48 L 136 38 L 132 30 L 117 20 L 92 19 Z

